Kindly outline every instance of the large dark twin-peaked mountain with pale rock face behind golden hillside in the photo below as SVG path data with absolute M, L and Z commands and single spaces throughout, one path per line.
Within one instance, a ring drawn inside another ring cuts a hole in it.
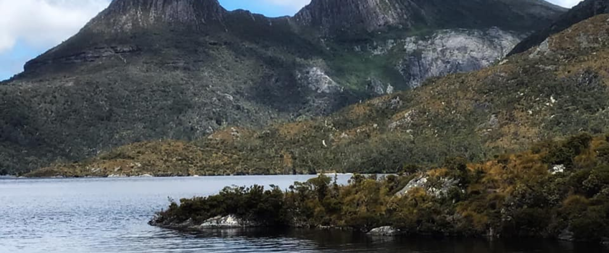
M 489 66 L 565 11 L 524 0 L 315 0 L 267 18 L 216 0 L 114 0 L 0 84 L 0 168 L 328 115 Z

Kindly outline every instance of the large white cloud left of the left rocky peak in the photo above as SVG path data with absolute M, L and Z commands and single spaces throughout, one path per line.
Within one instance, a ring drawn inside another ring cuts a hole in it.
M 0 0 L 0 53 L 17 42 L 54 45 L 74 35 L 110 0 Z

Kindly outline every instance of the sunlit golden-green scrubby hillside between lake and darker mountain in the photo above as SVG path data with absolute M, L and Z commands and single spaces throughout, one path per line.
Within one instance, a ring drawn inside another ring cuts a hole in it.
M 325 118 L 226 129 L 195 143 L 138 143 L 31 175 L 395 172 L 607 132 L 608 28 L 609 15 L 595 16 L 496 66 L 431 79 Z

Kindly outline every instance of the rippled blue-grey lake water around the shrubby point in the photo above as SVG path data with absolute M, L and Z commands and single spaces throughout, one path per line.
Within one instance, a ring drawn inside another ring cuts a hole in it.
M 339 176 L 345 183 L 347 175 Z M 602 252 L 596 245 L 544 240 L 372 238 L 348 232 L 176 232 L 149 226 L 174 199 L 225 186 L 276 184 L 310 176 L 0 180 L 0 253 L 16 252 Z

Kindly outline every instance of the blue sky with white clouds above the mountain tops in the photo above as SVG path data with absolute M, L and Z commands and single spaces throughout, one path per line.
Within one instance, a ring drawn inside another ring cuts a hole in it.
M 219 0 L 266 16 L 294 15 L 311 0 Z M 572 7 L 580 0 L 549 0 Z M 110 0 L 0 0 L 0 80 L 23 71 L 23 64 L 76 34 Z

